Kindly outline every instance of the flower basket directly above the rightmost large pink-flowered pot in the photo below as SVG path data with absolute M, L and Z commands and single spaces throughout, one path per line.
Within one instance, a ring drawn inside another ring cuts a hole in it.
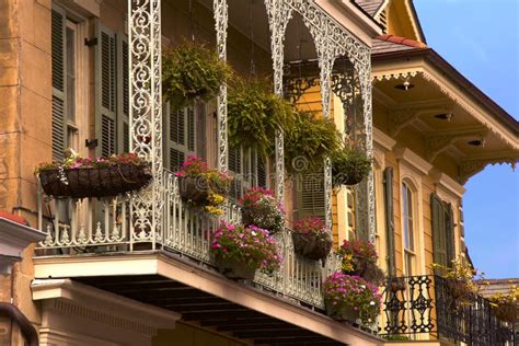
M 384 281 L 384 273 L 377 265 L 377 250 L 373 243 L 362 240 L 344 241 L 338 250 L 343 258 L 342 270 L 356 275 L 380 286 Z

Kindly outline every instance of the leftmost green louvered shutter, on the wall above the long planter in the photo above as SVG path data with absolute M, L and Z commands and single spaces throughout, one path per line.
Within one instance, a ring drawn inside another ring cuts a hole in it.
M 67 143 L 66 14 L 59 7 L 51 12 L 53 60 L 53 160 L 61 160 Z

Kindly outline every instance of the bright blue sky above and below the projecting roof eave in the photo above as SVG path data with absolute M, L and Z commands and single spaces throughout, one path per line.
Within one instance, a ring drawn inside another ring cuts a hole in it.
M 414 3 L 427 44 L 518 119 L 519 1 Z M 466 244 L 488 278 L 519 277 L 518 171 L 489 165 L 465 184 Z

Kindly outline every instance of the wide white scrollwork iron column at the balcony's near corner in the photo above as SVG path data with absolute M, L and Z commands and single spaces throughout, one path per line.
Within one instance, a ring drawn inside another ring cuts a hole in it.
M 128 0 L 130 151 L 150 161 L 153 174 L 150 186 L 131 199 L 130 242 L 151 241 L 153 249 L 163 205 L 160 16 L 160 0 Z

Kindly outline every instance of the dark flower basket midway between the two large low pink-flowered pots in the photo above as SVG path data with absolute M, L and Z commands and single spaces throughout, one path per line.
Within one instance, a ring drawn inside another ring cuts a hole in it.
M 323 262 L 332 250 L 332 234 L 319 217 L 307 217 L 293 222 L 293 250 L 310 260 Z

